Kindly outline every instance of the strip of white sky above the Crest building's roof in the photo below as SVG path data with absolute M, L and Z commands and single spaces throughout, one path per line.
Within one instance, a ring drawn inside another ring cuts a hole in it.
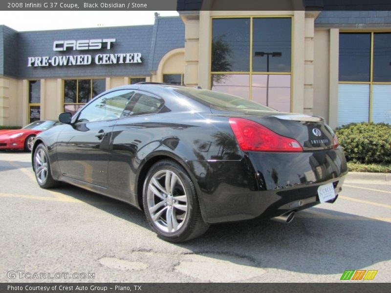
M 177 16 L 176 11 L 156 11 Z M 155 11 L 0 11 L 0 24 L 17 31 L 153 24 Z

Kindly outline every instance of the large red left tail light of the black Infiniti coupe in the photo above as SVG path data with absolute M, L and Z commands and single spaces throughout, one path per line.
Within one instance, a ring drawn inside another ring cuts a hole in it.
M 244 118 L 228 121 L 241 150 L 303 151 L 297 140 L 279 135 L 259 123 Z

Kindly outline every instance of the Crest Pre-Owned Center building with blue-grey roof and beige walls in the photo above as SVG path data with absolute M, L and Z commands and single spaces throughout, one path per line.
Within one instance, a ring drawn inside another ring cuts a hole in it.
M 57 119 L 107 89 L 144 81 L 231 93 L 332 127 L 391 123 L 391 11 L 291 6 L 156 14 L 142 26 L 1 25 L 0 125 Z

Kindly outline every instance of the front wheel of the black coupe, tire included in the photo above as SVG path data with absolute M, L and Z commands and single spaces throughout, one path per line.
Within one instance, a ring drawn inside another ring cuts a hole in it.
M 40 157 L 40 160 L 37 159 L 37 155 Z M 37 179 L 37 183 L 41 188 L 55 188 L 61 185 L 60 181 L 53 179 L 49 156 L 47 154 L 46 147 L 43 144 L 39 144 L 34 151 L 33 157 L 34 164 L 34 174 Z M 43 170 L 40 172 L 40 167 L 43 166 Z M 43 174 L 42 174 L 43 173 Z M 43 176 L 44 175 L 44 176 Z

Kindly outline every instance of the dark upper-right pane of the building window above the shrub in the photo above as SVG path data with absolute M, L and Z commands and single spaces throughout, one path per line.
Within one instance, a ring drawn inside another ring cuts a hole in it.
M 391 82 L 391 33 L 373 36 L 373 81 Z

